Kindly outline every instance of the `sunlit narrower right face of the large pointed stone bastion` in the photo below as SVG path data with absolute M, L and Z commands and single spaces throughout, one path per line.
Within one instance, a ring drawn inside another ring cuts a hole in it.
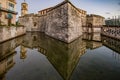
M 72 4 L 68 4 L 68 42 L 82 35 L 82 13 Z

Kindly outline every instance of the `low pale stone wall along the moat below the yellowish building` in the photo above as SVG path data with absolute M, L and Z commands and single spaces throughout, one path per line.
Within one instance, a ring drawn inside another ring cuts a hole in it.
M 26 32 L 25 27 L 0 27 L 0 43 L 17 36 L 23 35 Z

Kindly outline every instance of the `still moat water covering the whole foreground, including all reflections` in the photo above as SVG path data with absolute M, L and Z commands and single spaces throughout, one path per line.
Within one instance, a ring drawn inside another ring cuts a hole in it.
M 0 80 L 120 80 L 120 41 L 95 33 L 66 44 L 27 33 L 0 44 Z

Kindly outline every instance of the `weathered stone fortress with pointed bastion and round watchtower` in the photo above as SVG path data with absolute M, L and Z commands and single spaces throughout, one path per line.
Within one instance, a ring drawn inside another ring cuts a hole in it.
M 21 6 L 21 16 L 18 22 L 24 25 L 27 31 L 44 32 L 46 35 L 66 43 L 80 37 L 84 30 L 87 31 L 87 27 L 83 29 L 83 26 L 87 25 L 87 12 L 76 8 L 69 0 L 38 11 L 37 14 L 28 14 L 26 2 L 22 3 Z M 103 25 L 104 18 L 99 17 L 99 15 L 96 17 L 102 18 L 103 22 L 100 24 Z M 94 25 L 94 22 L 91 24 Z

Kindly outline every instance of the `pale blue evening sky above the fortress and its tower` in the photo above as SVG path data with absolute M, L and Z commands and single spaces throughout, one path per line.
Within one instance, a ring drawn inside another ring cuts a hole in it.
M 26 0 L 28 12 L 38 11 L 57 5 L 64 0 Z M 87 14 L 97 14 L 103 17 L 112 18 L 120 15 L 120 0 L 70 0 L 76 7 L 87 11 Z M 21 3 L 24 0 L 17 0 L 18 16 L 21 14 Z

